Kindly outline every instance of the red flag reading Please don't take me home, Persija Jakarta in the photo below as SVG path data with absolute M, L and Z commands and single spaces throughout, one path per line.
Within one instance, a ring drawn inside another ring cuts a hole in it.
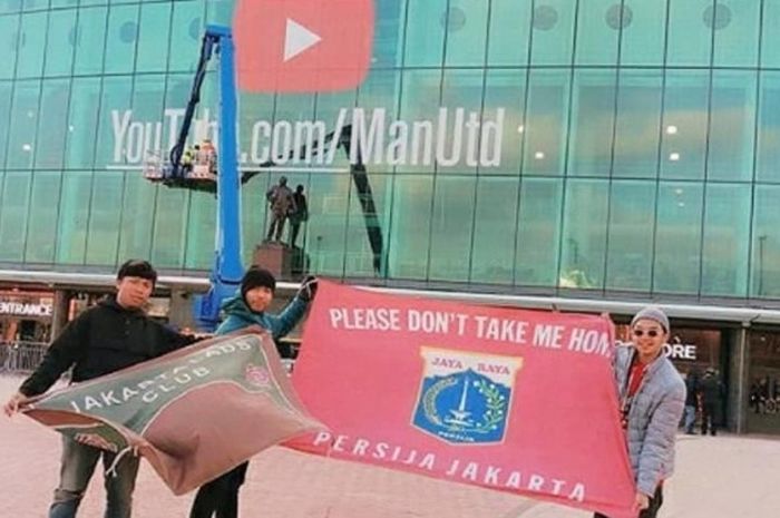
M 601 316 L 320 282 L 293 383 L 331 431 L 287 444 L 636 516 L 613 339 Z

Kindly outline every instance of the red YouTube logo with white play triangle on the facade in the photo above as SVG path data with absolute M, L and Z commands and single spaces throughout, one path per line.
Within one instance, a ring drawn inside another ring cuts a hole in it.
M 371 65 L 373 0 L 238 0 L 238 88 L 314 92 L 359 86 Z

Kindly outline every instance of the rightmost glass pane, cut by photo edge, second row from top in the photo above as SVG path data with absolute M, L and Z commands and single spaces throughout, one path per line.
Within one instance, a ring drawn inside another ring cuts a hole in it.
M 760 78 L 755 179 L 780 182 L 780 72 L 764 71 Z

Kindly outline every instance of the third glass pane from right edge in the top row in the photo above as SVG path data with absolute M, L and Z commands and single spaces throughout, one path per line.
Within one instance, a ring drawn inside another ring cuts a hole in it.
M 713 0 L 670 0 L 667 65 L 710 65 L 714 3 Z

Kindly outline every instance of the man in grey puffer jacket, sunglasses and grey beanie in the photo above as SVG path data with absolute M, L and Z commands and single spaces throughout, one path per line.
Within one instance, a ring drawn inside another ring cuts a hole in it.
M 669 319 L 649 306 L 631 321 L 632 343 L 617 345 L 613 368 L 628 458 L 636 480 L 640 518 L 655 518 L 663 482 L 674 470 L 677 423 L 685 408 L 685 382 L 663 353 Z M 596 518 L 605 518 L 595 514 Z

